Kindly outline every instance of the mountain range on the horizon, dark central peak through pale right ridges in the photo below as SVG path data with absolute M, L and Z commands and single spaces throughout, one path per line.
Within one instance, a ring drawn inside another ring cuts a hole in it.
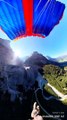
M 65 67 L 67 66 L 67 55 L 57 58 L 51 58 L 49 56 L 45 57 L 42 54 L 35 51 L 31 56 L 27 57 L 27 59 L 24 62 L 25 66 L 32 66 L 34 67 L 34 69 L 38 69 L 38 70 L 40 70 L 46 64 Z

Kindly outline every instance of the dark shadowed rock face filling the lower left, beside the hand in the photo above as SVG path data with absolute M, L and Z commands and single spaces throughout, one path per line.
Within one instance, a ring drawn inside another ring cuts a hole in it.
M 38 71 L 33 67 L 17 65 L 1 66 L 0 71 L 0 118 L 2 120 L 28 120 L 34 91 L 38 88 Z M 41 85 L 41 81 L 39 82 Z M 2 111 L 2 113 L 1 113 Z

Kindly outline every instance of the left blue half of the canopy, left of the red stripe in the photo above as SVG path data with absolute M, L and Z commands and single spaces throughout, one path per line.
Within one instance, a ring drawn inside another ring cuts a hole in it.
M 22 0 L 0 0 L 0 27 L 10 39 L 25 34 Z

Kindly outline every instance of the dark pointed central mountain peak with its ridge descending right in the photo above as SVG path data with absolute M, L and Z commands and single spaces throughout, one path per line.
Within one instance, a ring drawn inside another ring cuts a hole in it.
M 57 65 L 59 67 L 63 67 L 66 64 L 60 64 L 59 62 L 53 60 L 52 58 L 48 59 L 48 57 L 43 56 L 38 52 L 33 52 L 33 54 L 26 59 L 24 62 L 25 66 L 32 66 L 34 69 L 38 69 L 38 71 L 42 74 L 42 67 L 46 64 Z

